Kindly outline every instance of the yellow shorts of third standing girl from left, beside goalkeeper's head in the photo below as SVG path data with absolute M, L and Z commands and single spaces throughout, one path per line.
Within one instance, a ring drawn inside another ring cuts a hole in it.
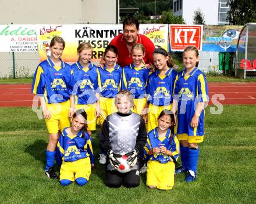
M 106 116 L 112 114 L 113 112 L 118 111 L 115 104 L 115 98 L 109 99 L 109 98 L 100 98 L 100 104 L 101 104 L 101 116 L 97 119 L 97 124 L 102 125 Z

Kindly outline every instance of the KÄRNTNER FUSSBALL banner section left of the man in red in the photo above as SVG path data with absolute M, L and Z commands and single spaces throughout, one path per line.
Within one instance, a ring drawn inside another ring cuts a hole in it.
M 78 59 L 77 46 L 81 42 L 88 42 L 93 46 L 92 61 L 101 59 L 109 42 L 122 32 L 122 25 L 115 24 L 53 24 L 37 25 L 37 43 L 40 61 L 47 59 L 49 43 L 55 36 L 62 37 L 66 42 L 62 59 L 75 62 Z

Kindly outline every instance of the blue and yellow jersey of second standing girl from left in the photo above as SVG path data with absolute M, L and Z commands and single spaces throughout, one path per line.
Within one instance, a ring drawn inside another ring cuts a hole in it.
M 83 66 L 77 61 L 71 65 L 76 85 L 74 85 L 73 95 L 76 95 L 76 104 L 94 104 L 97 102 L 96 93 L 98 89 L 97 67 L 89 63 Z

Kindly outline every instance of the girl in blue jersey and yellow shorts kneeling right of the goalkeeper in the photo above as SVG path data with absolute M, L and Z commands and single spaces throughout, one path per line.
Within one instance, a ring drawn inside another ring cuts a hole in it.
M 171 190 L 174 185 L 175 163 L 179 156 L 179 141 L 174 133 L 174 115 L 163 110 L 157 119 L 158 127 L 148 133 L 147 185 L 149 188 Z

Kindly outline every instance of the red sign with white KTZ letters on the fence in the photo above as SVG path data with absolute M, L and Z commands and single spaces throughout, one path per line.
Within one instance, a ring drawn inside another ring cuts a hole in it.
M 170 25 L 170 49 L 181 51 L 187 46 L 202 49 L 202 25 Z

